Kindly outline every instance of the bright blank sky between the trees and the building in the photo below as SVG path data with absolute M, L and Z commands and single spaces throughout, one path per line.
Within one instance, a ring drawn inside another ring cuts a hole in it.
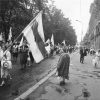
M 88 30 L 90 19 L 90 5 L 94 0 L 54 0 L 57 8 L 61 9 L 65 17 L 71 20 L 78 42 Z

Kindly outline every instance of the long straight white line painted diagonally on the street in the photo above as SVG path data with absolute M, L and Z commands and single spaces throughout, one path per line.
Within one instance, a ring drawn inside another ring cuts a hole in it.
M 53 74 L 56 73 L 56 68 L 50 73 L 48 74 L 46 77 L 44 77 L 43 79 L 41 79 L 38 83 L 36 83 L 34 86 L 32 86 L 31 88 L 29 88 L 26 92 L 24 92 L 23 94 L 21 94 L 20 96 L 18 96 L 17 98 L 15 98 L 14 100 L 21 100 L 21 99 L 25 99 L 29 94 L 31 94 L 33 91 L 35 91 L 41 84 L 43 84 L 49 77 L 51 77 Z

